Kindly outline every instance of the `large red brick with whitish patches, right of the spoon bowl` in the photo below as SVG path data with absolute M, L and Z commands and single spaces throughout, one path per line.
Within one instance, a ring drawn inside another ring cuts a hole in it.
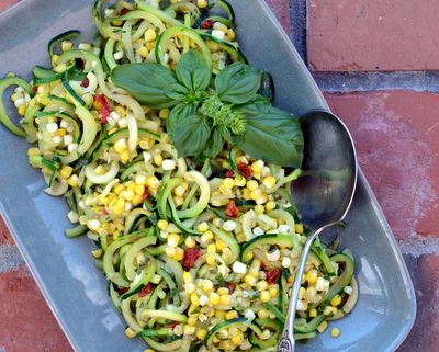
M 397 239 L 437 234 L 439 95 L 325 93 L 352 133 L 359 163 Z

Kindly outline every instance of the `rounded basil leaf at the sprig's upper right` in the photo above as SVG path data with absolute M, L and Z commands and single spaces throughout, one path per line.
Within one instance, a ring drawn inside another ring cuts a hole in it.
M 250 101 L 260 87 L 259 73 L 250 66 L 234 63 L 224 68 L 215 78 L 215 88 L 222 100 L 234 104 Z

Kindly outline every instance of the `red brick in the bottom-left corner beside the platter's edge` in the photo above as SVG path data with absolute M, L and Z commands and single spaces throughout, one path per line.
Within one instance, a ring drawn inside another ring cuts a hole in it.
M 72 351 L 26 265 L 0 274 L 0 350 Z

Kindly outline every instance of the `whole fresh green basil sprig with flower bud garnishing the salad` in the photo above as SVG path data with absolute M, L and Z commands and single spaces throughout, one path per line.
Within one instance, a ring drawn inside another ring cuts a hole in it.
M 213 77 L 204 57 L 189 50 L 176 72 L 156 63 L 124 64 L 111 80 L 148 107 L 170 109 L 167 132 L 179 157 L 214 158 L 225 139 L 273 164 L 302 163 L 297 120 L 258 94 L 259 75 L 250 65 L 234 63 Z

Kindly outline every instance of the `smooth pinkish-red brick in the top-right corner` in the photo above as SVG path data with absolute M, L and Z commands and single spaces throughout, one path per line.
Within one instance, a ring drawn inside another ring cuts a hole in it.
M 308 0 L 308 64 L 318 71 L 437 70 L 437 0 Z

